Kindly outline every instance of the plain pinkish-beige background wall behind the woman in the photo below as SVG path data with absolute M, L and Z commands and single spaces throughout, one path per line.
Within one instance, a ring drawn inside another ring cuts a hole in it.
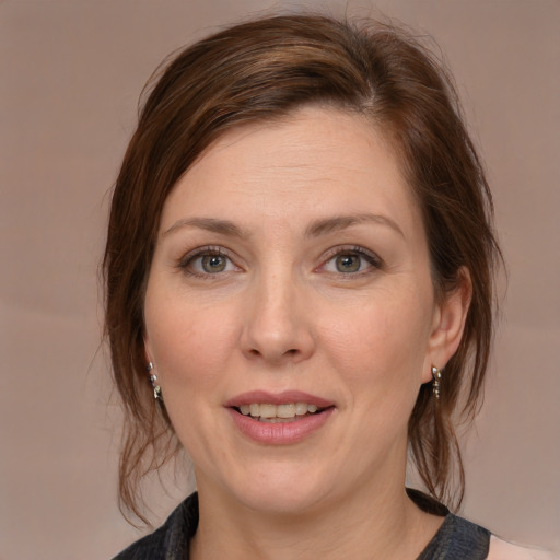
M 98 349 L 107 190 L 165 55 L 293 5 L 0 0 L 1 560 L 109 558 L 139 535 L 116 506 L 118 407 Z M 510 269 L 464 513 L 559 550 L 560 2 L 348 5 L 432 34 L 455 72 Z M 156 522 L 178 500 L 149 493 Z

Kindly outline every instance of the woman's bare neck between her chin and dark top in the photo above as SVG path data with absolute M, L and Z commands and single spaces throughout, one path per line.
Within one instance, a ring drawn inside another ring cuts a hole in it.
M 404 481 L 372 487 L 290 514 L 207 499 L 199 488 L 200 521 L 191 558 L 417 558 L 442 518 L 419 510 L 406 495 Z

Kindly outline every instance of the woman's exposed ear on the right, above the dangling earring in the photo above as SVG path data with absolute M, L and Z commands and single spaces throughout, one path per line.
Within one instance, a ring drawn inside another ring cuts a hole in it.
M 422 373 L 422 381 L 427 383 L 432 378 L 432 365 L 445 368 L 451 357 L 457 351 L 468 308 L 472 296 L 472 282 L 470 273 L 462 267 L 458 271 L 457 288 L 442 296 L 435 304 L 432 330 L 428 341 L 428 352 Z

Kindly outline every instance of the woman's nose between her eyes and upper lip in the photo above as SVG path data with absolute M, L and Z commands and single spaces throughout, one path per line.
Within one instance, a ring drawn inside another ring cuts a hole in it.
M 244 355 L 272 365 L 299 363 L 315 350 L 308 298 L 290 275 L 261 278 L 244 312 Z

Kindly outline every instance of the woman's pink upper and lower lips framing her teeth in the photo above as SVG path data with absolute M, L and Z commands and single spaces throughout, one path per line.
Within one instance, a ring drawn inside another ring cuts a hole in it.
M 250 405 L 252 402 L 267 402 L 270 405 L 306 402 L 308 405 L 316 405 L 318 408 L 324 408 L 325 410 L 315 415 L 295 417 L 295 419 L 290 422 L 267 423 L 259 422 L 250 416 L 244 416 L 234 408 L 241 407 L 242 405 Z M 261 390 L 244 393 L 228 400 L 224 406 L 235 427 L 244 435 L 258 443 L 269 445 L 288 445 L 300 442 L 324 425 L 335 412 L 335 407 L 331 401 L 299 390 L 277 394 Z

